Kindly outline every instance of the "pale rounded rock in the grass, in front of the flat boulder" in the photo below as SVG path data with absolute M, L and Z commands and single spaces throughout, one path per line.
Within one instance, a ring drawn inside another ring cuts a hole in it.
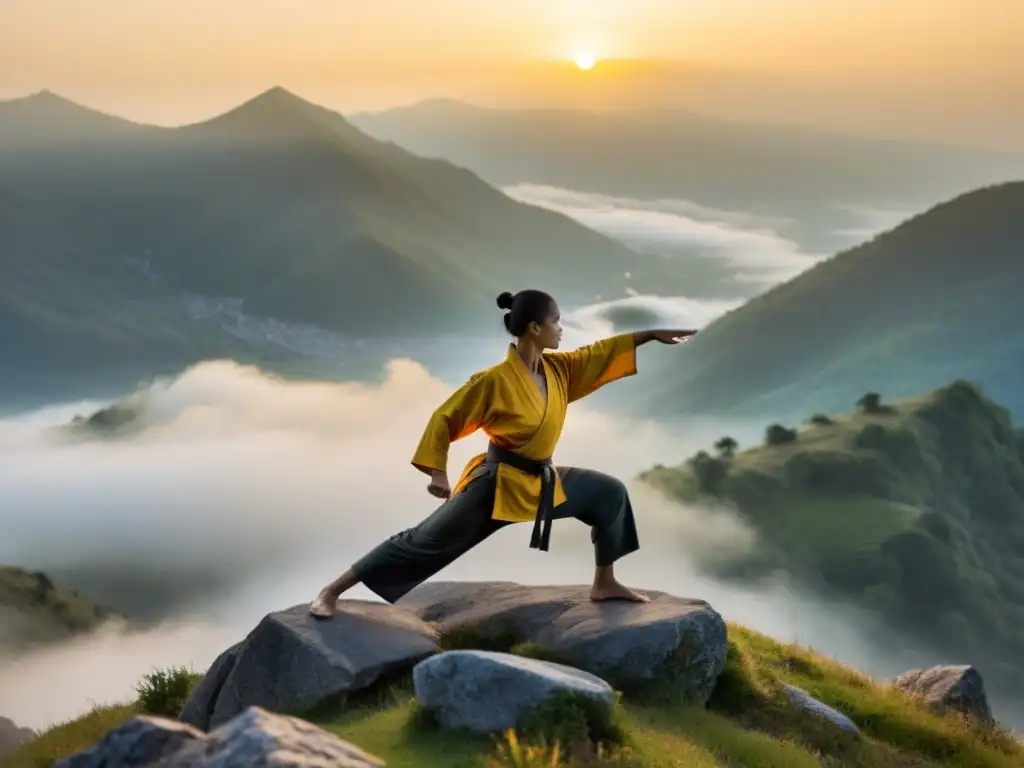
M 447 728 L 489 733 L 514 728 L 519 718 L 559 691 L 615 705 L 611 686 L 590 673 L 512 653 L 453 650 L 413 668 L 416 698 Z

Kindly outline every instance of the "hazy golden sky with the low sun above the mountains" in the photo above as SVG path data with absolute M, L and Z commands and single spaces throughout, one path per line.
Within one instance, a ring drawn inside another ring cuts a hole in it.
M 1022 31 L 1019 0 L 3 0 L 0 98 L 47 88 L 180 124 L 272 85 L 341 111 L 642 93 L 1002 145 L 1024 140 Z M 598 66 L 575 70 L 581 52 Z

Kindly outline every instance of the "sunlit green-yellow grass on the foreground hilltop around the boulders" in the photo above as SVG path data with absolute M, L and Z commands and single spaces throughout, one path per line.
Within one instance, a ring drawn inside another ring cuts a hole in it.
M 513 638 L 481 642 L 501 649 Z M 469 647 L 471 633 L 450 638 Z M 520 650 L 537 649 L 518 646 Z M 181 671 L 154 674 L 139 690 L 174 689 Z M 191 683 L 198 679 L 188 678 Z M 168 684 L 171 681 L 173 684 Z M 792 708 L 780 684 L 800 686 L 848 715 L 864 738 L 837 731 Z M 310 716 L 321 727 L 386 761 L 389 768 L 1019 768 L 1024 748 L 1012 735 L 941 716 L 905 694 L 806 648 L 730 627 L 730 651 L 707 709 L 624 695 L 610 720 L 554 701 L 519 732 L 480 735 L 444 730 L 422 712 L 411 675 Z M 8 756 L 10 768 L 43 768 L 97 741 L 143 711 L 141 700 L 106 707 L 41 733 Z M 552 739 L 546 724 L 575 724 Z M 581 739 L 585 724 L 589 737 Z M 547 734 L 545 731 L 548 731 Z

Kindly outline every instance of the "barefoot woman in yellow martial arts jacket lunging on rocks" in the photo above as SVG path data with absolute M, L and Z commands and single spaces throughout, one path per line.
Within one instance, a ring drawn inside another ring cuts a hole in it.
M 639 549 L 625 484 L 601 472 L 555 467 L 555 444 L 566 407 L 637 373 L 636 348 L 678 344 L 696 331 L 625 333 L 571 351 L 557 350 L 562 330 L 555 300 L 536 290 L 503 293 L 505 328 L 514 337 L 505 359 L 473 374 L 430 418 L 413 466 L 430 476 L 427 490 L 444 500 L 418 525 L 372 549 L 309 605 L 330 618 L 338 598 L 361 583 L 388 602 L 441 570 L 497 530 L 532 522 L 530 547 L 548 550 L 552 520 L 574 517 L 591 527 L 595 573 L 592 600 L 648 598 L 616 581 L 613 565 Z M 483 430 L 487 451 L 471 459 L 453 490 L 449 446 Z

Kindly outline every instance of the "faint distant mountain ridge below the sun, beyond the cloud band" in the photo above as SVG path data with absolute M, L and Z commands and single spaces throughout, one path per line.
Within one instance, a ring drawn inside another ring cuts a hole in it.
M 858 138 L 680 109 L 485 109 L 431 99 L 349 120 L 497 185 L 682 198 L 790 217 L 802 242 L 824 250 L 839 247 L 838 231 L 864 226 L 847 206 L 916 210 L 1024 175 L 1024 154 Z

